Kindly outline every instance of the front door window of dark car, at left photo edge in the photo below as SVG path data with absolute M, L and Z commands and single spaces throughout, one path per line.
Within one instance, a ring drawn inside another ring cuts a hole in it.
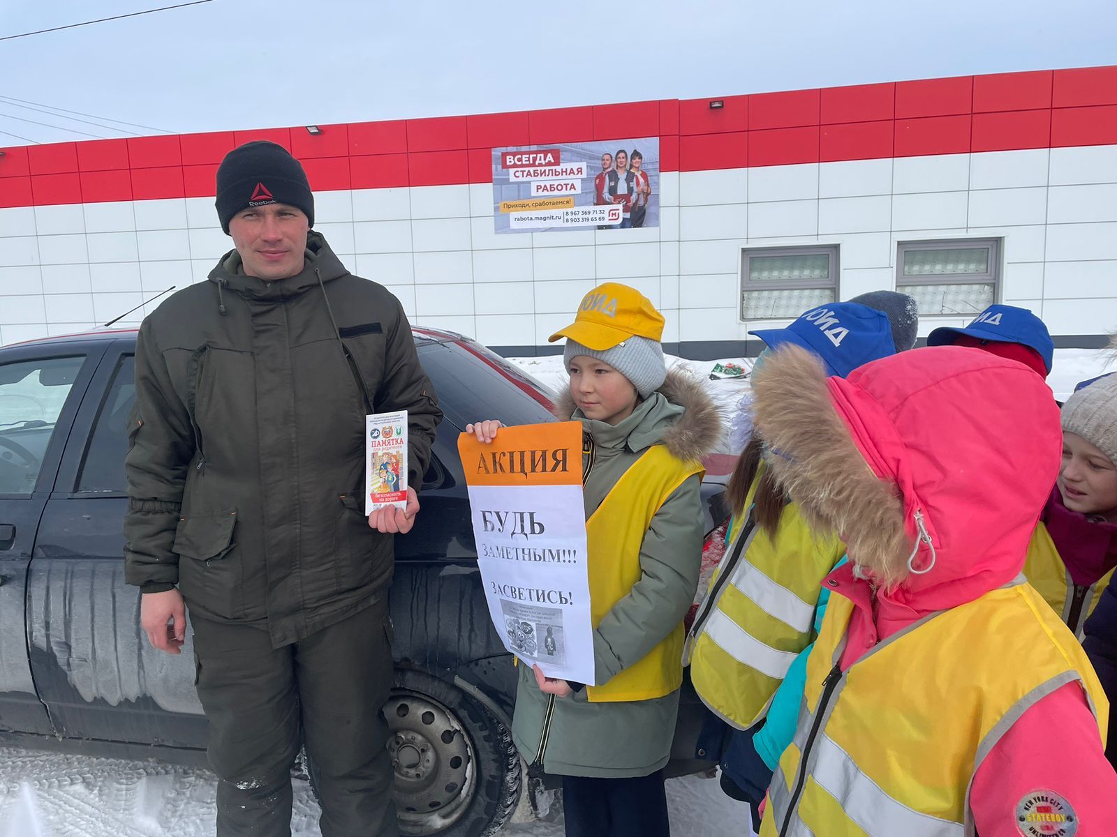
M 29 496 L 85 357 L 0 364 L 0 494 Z

